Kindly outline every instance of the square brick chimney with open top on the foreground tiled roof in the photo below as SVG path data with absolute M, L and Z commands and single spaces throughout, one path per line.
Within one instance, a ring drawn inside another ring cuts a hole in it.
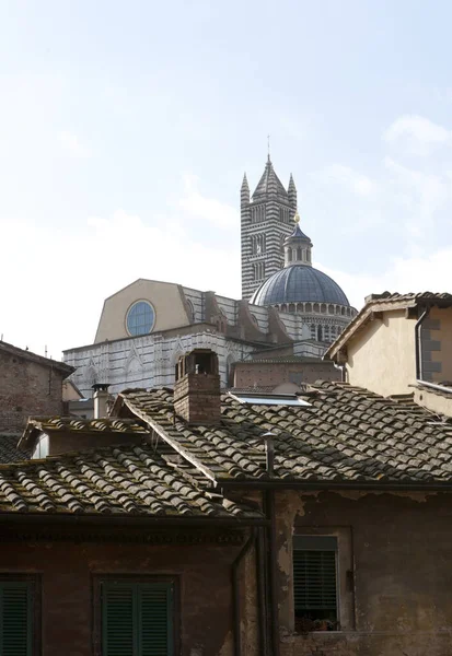
M 178 359 L 174 411 L 189 424 L 219 423 L 221 393 L 218 355 L 210 349 L 195 349 Z

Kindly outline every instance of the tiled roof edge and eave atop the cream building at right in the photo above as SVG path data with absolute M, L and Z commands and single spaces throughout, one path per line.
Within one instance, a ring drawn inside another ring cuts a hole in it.
M 324 354 L 326 360 L 334 356 L 345 347 L 347 341 L 355 335 L 368 320 L 372 319 L 374 312 L 384 312 L 391 309 L 399 309 L 404 307 L 439 307 L 452 306 L 452 294 L 448 293 L 408 293 L 398 294 L 383 292 L 382 294 L 370 294 L 366 297 L 366 305 L 349 323 L 347 328 L 339 335 Z

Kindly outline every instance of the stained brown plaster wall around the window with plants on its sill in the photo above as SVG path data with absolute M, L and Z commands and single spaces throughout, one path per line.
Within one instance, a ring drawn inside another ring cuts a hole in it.
M 281 656 L 450 654 L 451 501 L 447 493 L 279 494 Z M 293 633 L 292 530 L 339 535 L 341 632 Z

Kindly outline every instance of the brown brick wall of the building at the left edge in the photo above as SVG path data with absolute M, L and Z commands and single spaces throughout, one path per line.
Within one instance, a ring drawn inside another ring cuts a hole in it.
M 61 373 L 0 351 L 0 431 L 20 433 L 30 415 L 61 413 Z

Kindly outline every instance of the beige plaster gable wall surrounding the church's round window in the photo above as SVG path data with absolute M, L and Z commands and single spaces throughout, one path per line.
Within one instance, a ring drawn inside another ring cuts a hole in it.
M 190 323 L 177 284 L 140 279 L 105 301 L 95 343 L 128 337 L 126 315 L 136 301 L 149 301 L 153 305 L 153 331 L 177 328 Z

